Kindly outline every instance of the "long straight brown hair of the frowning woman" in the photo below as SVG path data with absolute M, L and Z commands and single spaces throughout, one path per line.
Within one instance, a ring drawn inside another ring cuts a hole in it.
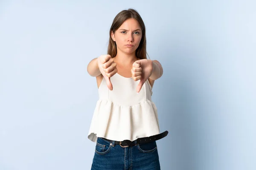
M 123 10 L 119 12 L 113 20 L 109 31 L 109 42 L 108 42 L 108 54 L 111 57 L 115 57 L 117 54 L 116 42 L 114 42 L 111 38 L 111 32 L 115 33 L 115 31 L 125 22 L 125 20 L 134 18 L 140 24 L 140 28 L 142 31 L 142 37 L 140 40 L 140 45 L 136 49 L 136 57 L 139 59 L 147 59 L 147 51 L 146 51 L 146 28 L 145 24 L 140 17 L 140 14 L 135 10 L 129 8 L 128 10 Z

